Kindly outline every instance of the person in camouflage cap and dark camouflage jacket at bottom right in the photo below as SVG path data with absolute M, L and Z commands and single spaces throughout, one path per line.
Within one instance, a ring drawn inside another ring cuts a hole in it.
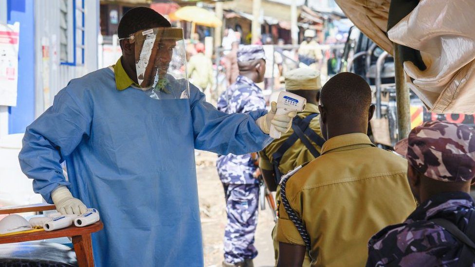
M 420 203 L 402 223 L 384 228 L 368 244 L 366 266 L 475 266 L 475 130 L 427 122 L 398 142 Z

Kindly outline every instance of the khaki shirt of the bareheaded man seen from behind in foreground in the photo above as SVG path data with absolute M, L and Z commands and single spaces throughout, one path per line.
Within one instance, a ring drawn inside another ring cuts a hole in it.
M 289 203 L 310 235 L 311 266 L 365 266 L 369 238 L 416 208 L 406 172 L 405 159 L 376 148 L 365 134 L 325 142 L 322 155 L 286 184 Z M 276 239 L 305 246 L 283 205 Z

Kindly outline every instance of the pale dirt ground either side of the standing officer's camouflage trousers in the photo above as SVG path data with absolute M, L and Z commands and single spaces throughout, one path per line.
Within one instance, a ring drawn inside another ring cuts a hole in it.
M 226 226 L 224 192 L 216 171 L 217 155 L 197 151 L 198 193 L 200 196 L 201 228 L 203 232 L 204 266 L 220 267 L 223 261 L 223 235 Z M 269 207 L 259 210 L 256 231 L 258 255 L 256 267 L 274 266 L 271 231 L 274 227 Z

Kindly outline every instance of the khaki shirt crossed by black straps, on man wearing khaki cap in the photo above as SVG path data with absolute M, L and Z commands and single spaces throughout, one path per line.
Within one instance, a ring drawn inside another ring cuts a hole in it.
M 304 111 L 297 113 L 297 116 L 300 118 L 305 118 L 309 116 L 311 113 L 318 113 L 318 107 L 314 104 L 308 103 L 305 107 Z M 315 131 L 319 136 L 322 136 L 322 131 L 320 131 L 320 115 L 317 115 L 313 118 L 310 122 L 310 127 L 313 131 Z M 272 164 L 272 160 L 274 159 L 272 155 L 277 152 L 277 150 L 282 146 L 282 144 L 287 141 L 287 139 L 293 134 L 293 129 L 282 134 L 279 139 L 274 140 L 271 144 L 269 144 L 264 150 L 259 152 L 259 168 L 263 170 L 274 170 L 274 165 Z M 320 153 L 321 148 L 316 143 L 311 142 L 311 144 L 317 149 Z M 282 159 L 280 160 L 279 170 L 281 173 L 286 174 L 295 167 L 302 165 L 305 162 L 311 161 L 315 159 L 310 151 L 305 147 L 305 145 L 297 139 L 297 141 L 287 150 L 287 152 L 282 155 Z

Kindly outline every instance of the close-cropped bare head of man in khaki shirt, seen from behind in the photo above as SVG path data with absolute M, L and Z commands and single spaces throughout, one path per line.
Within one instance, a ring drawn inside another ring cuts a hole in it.
M 319 109 L 322 133 L 324 137 L 328 135 L 326 139 L 346 133 L 366 134 L 374 112 L 371 89 L 365 79 L 357 74 L 336 74 L 320 92 Z

